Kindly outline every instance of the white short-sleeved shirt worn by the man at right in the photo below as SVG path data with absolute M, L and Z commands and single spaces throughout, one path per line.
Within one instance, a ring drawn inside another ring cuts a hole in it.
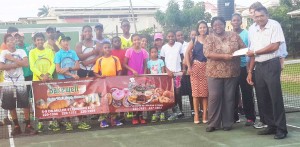
M 269 19 L 263 29 L 260 29 L 257 24 L 253 25 L 249 28 L 250 50 L 257 51 L 272 43 L 285 43 L 282 28 L 277 21 Z M 255 61 L 264 62 L 275 57 L 279 57 L 278 50 L 272 53 L 257 55 Z

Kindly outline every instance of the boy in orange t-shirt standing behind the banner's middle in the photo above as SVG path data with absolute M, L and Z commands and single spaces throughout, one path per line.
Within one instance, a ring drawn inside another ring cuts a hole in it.
M 102 48 L 104 52 L 104 56 L 100 57 L 95 64 L 94 68 L 94 74 L 96 77 L 106 77 L 106 76 L 120 76 L 122 71 L 122 66 L 120 63 L 120 60 L 116 56 L 111 55 L 111 45 L 109 42 L 103 42 Z M 121 126 L 123 123 L 121 123 L 119 120 L 116 119 L 117 114 L 111 114 L 111 126 Z M 108 127 L 107 123 L 107 117 L 108 114 L 101 114 L 99 121 L 100 121 L 100 127 L 106 128 Z

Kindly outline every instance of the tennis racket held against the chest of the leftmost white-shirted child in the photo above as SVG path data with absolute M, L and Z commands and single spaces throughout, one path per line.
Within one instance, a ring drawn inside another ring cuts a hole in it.
M 15 59 L 19 59 L 22 60 L 22 58 L 19 55 L 15 55 L 15 54 L 11 54 Z M 13 61 L 10 60 L 5 60 L 5 64 L 13 64 Z M 7 70 L 7 76 L 8 78 L 12 81 L 13 83 L 13 97 L 17 98 L 17 86 L 15 85 L 15 82 L 18 81 L 18 79 L 20 78 L 20 76 L 22 75 L 22 68 L 15 68 L 15 69 L 10 69 Z

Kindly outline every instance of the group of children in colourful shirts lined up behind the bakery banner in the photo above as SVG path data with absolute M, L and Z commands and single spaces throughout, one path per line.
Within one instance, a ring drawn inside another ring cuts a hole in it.
M 16 44 L 18 37 L 21 41 L 24 41 L 24 34 L 15 30 L 14 33 L 7 33 L 4 36 L 4 45 L 0 55 L 0 70 L 4 71 L 4 81 L 14 82 L 11 78 L 7 78 L 7 72 L 11 69 L 23 68 L 22 76 L 19 76 L 15 81 L 49 81 L 52 79 L 79 79 L 85 77 L 107 77 L 107 76 L 121 76 L 121 75 L 141 75 L 141 74 L 162 74 L 167 73 L 173 77 L 175 83 L 175 107 L 172 109 L 168 120 L 175 120 L 178 117 L 182 117 L 182 101 L 181 101 L 181 75 L 179 74 L 184 70 L 182 66 L 184 50 L 183 44 L 176 42 L 176 35 L 174 32 L 167 33 L 167 43 L 163 45 L 164 38 L 161 33 L 154 35 L 154 45 L 147 52 L 147 38 L 141 37 L 138 34 L 130 34 L 130 23 L 128 20 L 123 20 L 121 23 L 123 35 L 120 37 L 113 37 L 111 41 L 103 37 L 103 25 L 98 24 L 95 26 L 96 39 L 93 39 L 93 28 L 86 25 L 82 29 L 81 41 L 76 45 L 75 50 L 70 49 L 71 38 L 65 36 L 59 31 L 56 31 L 55 27 L 47 27 L 46 35 L 47 41 L 43 33 L 34 33 L 32 36 L 34 42 L 33 49 L 25 49 L 24 42 L 20 45 Z M 46 41 L 46 42 L 45 42 Z M 27 50 L 27 51 L 26 51 Z M 21 56 L 21 59 L 14 59 L 12 54 Z M 41 71 L 36 63 L 39 60 L 47 59 L 51 62 L 46 71 Z M 63 66 L 62 62 L 65 58 L 71 58 L 74 62 L 71 66 Z M 13 62 L 13 64 L 5 64 L 7 60 Z M 28 71 L 29 69 L 29 71 Z M 26 72 L 28 75 L 25 75 Z M 24 76 L 23 76 L 24 74 Z M 32 79 L 30 77 L 32 74 Z M 25 79 L 24 79 L 25 77 Z M 24 89 L 24 88 L 23 88 Z M 26 133 L 35 134 L 36 131 L 30 126 L 29 119 L 29 88 L 25 88 L 26 91 L 21 89 L 17 90 L 18 108 L 24 108 Z M 23 95 L 22 95 L 23 92 Z M 12 91 L 7 90 L 7 94 L 11 94 Z M 6 98 L 7 97 L 7 98 Z M 12 95 L 4 95 L 2 99 L 2 108 L 9 110 L 15 128 L 12 135 L 18 135 L 21 133 L 21 129 L 18 123 L 16 115 L 16 105 L 7 107 L 8 97 Z M 22 99 L 22 101 L 21 101 Z M 10 99 L 9 103 L 13 103 L 13 99 Z M 15 103 L 15 102 L 14 102 Z M 142 112 L 133 113 L 132 124 L 145 124 L 146 120 L 142 116 Z M 152 122 L 156 122 L 159 119 L 165 120 L 164 113 L 154 113 L 152 116 Z M 122 118 L 125 114 L 121 113 L 119 117 L 116 115 L 100 115 L 100 127 L 108 127 L 108 117 L 111 119 L 111 125 L 120 126 Z M 80 120 L 78 125 L 79 129 L 90 129 L 91 126 L 86 123 L 83 116 L 76 117 Z M 60 124 L 66 127 L 66 130 L 73 130 L 73 126 L 68 119 L 53 119 L 49 120 L 49 130 L 60 130 Z M 7 120 L 5 120 L 7 121 Z M 4 122 L 6 123 L 6 122 Z M 37 130 L 43 131 L 43 121 L 39 121 Z

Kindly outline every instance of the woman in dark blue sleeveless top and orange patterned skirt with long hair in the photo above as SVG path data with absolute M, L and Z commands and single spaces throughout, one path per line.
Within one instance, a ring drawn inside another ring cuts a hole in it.
M 195 109 L 194 123 L 199 121 L 199 100 L 202 100 L 202 122 L 207 123 L 207 77 L 205 75 L 206 57 L 203 54 L 203 43 L 208 34 L 208 26 L 205 21 L 200 21 L 197 24 L 197 36 L 192 39 L 186 51 L 186 63 L 188 72 L 191 75 L 191 86 L 193 104 Z

